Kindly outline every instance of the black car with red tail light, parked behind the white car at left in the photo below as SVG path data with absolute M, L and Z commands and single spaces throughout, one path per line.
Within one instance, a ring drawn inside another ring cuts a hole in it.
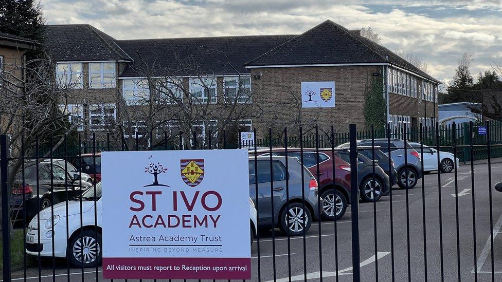
M 49 206 L 80 195 L 92 186 L 91 183 L 80 180 L 79 174 L 70 175 L 63 167 L 50 162 L 29 162 L 25 164 L 24 186 L 23 174 L 17 173 L 10 197 L 13 219 L 22 219 L 23 210 L 26 218 L 35 216 L 39 211 Z M 38 186 L 37 186 L 38 170 Z M 38 189 L 37 189 L 38 187 Z M 24 205 L 23 205 L 24 201 Z

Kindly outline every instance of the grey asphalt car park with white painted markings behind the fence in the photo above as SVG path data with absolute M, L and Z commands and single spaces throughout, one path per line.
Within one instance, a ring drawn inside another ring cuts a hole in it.
M 432 173 L 422 182 L 408 191 L 394 186 L 392 201 L 384 196 L 374 206 L 373 203 L 360 203 L 360 244 L 361 244 L 361 277 L 363 281 L 375 280 L 376 267 L 381 281 L 410 280 L 423 281 L 425 273 L 429 281 L 458 280 L 473 281 L 477 275 L 479 281 L 492 279 L 492 259 L 494 257 L 494 279 L 502 279 L 502 193 L 493 189 L 498 181 L 502 181 L 502 160 L 492 161 L 492 185 L 489 185 L 488 165 L 474 165 L 474 187 L 472 186 L 471 166 L 461 165 L 455 174 Z M 455 188 L 457 184 L 457 189 Z M 439 188 L 440 187 L 440 188 Z M 493 193 L 493 229 L 490 227 L 489 191 Z M 441 193 L 439 194 L 439 191 Z M 475 234 L 473 233 L 473 193 L 475 195 Z M 457 260 L 457 209 L 460 256 Z M 441 201 L 441 225 L 439 224 Z M 426 232 L 426 271 L 424 269 L 423 209 L 425 202 Z M 391 240 L 390 209 L 392 205 L 393 240 Z M 374 212 L 376 211 L 377 249 L 375 256 Z M 409 220 L 407 220 L 409 219 Z M 320 239 L 319 239 L 320 228 Z M 407 234 L 409 230 L 409 240 Z M 494 252 L 491 252 L 490 232 L 494 237 Z M 325 281 L 352 280 L 351 262 L 351 213 L 335 223 L 329 221 L 314 222 L 308 234 L 303 237 L 285 237 L 279 230 L 275 238 L 271 232 L 261 232 L 260 253 L 255 240 L 252 247 L 253 281 L 292 281 L 307 279 L 320 280 L 320 261 L 322 277 Z M 440 233 L 442 232 L 442 236 Z M 475 235 L 475 240 L 474 240 Z M 275 244 L 273 244 L 273 241 Z M 474 245 L 474 241 L 476 242 Z M 393 242 L 393 243 L 391 243 Z M 335 244 L 336 243 L 336 244 Z M 319 254 L 319 244 L 321 253 Z M 409 244 L 409 247 L 408 247 Z M 273 245 L 275 245 L 275 256 Z M 288 245 L 290 251 L 288 252 Z M 441 248 L 442 247 L 442 248 Z M 474 255 L 474 247 L 476 255 Z M 409 252 L 408 252 L 409 249 Z M 337 257 L 335 259 L 335 250 Z M 441 255 L 442 253 L 442 255 Z M 408 260 L 409 257 L 409 260 Z M 442 261 L 442 263 L 441 263 Z M 458 269 L 459 261 L 459 269 Z M 476 261 L 476 268 L 475 268 Z M 56 280 L 68 280 L 65 260 L 57 260 Z M 336 264 L 337 262 L 337 264 Z M 260 264 L 260 273 L 258 273 Z M 393 264 L 393 268 L 392 268 Z M 336 272 L 336 266 L 338 271 Z M 409 267 L 409 268 L 408 268 Z M 306 270 L 306 272 L 304 271 Z M 393 271 L 392 271 L 393 270 Z M 84 270 L 85 281 L 96 277 L 95 269 Z M 260 277 L 258 277 L 260 275 Z M 51 259 L 42 261 L 41 280 L 52 280 Z M 81 279 L 80 269 L 70 269 L 70 280 Z M 101 280 L 101 272 L 98 272 Z M 13 280 L 23 280 L 23 270 L 13 273 Z M 39 280 L 39 269 L 27 269 L 28 281 Z

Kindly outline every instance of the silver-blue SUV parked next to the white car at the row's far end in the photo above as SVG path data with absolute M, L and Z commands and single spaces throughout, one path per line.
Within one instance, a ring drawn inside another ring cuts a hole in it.
M 347 147 L 349 143 L 339 145 L 338 147 Z M 380 151 L 388 156 L 389 144 L 388 139 L 379 138 L 374 139 L 374 145 L 378 146 Z M 372 146 L 370 140 L 357 140 L 357 146 L 370 147 Z M 417 185 L 418 180 L 422 178 L 422 163 L 420 154 L 409 143 L 407 144 L 405 162 L 404 157 L 404 141 L 401 139 L 390 139 L 390 157 L 394 161 L 394 167 L 398 172 L 398 185 L 401 189 L 406 189 L 406 179 L 408 179 L 408 189 L 413 189 Z M 406 177 L 407 172 L 407 177 Z

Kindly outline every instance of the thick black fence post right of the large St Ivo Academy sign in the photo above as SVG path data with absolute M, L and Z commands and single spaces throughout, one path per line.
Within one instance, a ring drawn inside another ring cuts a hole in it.
M 352 277 L 361 281 L 359 244 L 359 188 L 357 181 L 357 131 L 355 124 L 349 125 L 350 137 L 350 210 L 352 212 Z

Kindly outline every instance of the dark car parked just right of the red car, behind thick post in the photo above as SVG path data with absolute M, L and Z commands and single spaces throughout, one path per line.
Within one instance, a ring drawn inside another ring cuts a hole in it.
M 338 151 L 336 155 L 350 165 L 350 151 Z M 357 156 L 357 180 L 361 199 L 365 202 L 373 201 L 373 195 L 378 201 L 390 192 L 389 176 L 376 163 L 373 176 L 373 162 L 362 154 Z

